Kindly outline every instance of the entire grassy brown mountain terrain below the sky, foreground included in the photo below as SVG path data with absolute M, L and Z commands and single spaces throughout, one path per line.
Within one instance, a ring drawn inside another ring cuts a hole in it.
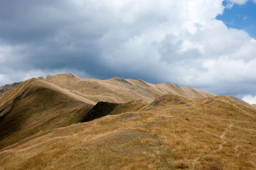
M 256 109 L 142 80 L 58 74 L 0 98 L 0 169 L 255 169 Z

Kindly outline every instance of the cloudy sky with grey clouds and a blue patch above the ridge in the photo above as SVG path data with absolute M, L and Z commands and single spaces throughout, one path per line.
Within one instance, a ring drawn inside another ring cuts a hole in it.
M 256 0 L 1 0 L 0 85 L 170 81 L 256 103 Z

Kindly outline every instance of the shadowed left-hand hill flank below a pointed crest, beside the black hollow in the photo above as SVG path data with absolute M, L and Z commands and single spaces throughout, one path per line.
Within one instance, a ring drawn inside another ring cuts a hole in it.
M 80 122 L 92 105 L 33 78 L 0 99 L 0 148 L 41 132 Z

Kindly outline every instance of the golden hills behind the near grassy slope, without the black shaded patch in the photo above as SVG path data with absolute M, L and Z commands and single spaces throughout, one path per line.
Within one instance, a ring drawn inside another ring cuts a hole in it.
M 214 96 L 171 83 L 154 85 L 124 78 L 97 80 L 78 78 L 70 73 L 32 78 L 1 89 L 4 94 L 0 98 L 0 149 L 38 132 L 44 134 L 57 127 L 79 123 L 99 101 L 127 103 L 143 99 L 144 106 L 164 93 Z M 125 111 L 124 107 L 122 110 Z

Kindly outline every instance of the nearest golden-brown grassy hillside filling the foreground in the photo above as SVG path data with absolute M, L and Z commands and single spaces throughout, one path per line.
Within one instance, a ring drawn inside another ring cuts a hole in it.
M 253 108 L 228 97 L 173 95 L 158 97 L 137 111 L 114 105 L 110 113 L 119 106 L 114 115 L 106 113 L 2 149 L 1 168 L 256 168 Z

